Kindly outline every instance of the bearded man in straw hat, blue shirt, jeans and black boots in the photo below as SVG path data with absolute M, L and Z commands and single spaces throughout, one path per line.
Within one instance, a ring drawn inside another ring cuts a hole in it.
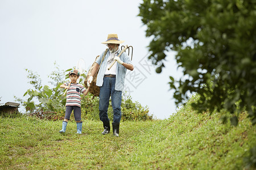
M 102 44 L 106 44 L 109 48 L 104 61 L 101 63 L 101 59 L 104 56 L 104 52 L 101 53 L 100 57 L 98 57 L 96 61 L 96 66 L 94 66 L 92 70 L 92 74 L 88 79 L 88 87 L 93 80 L 93 76 L 96 74 L 98 67 L 101 67 L 98 71 L 97 82 L 96 85 L 100 87 L 100 103 L 99 103 L 99 111 L 100 111 L 100 120 L 103 122 L 104 131 L 102 134 L 108 134 L 110 132 L 110 123 L 108 117 L 108 107 L 109 107 L 109 98 L 111 96 L 112 99 L 112 107 L 113 107 L 113 135 L 116 137 L 119 136 L 119 123 L 121 121 L 121 101 L 122 101 L 122 91 L 125 85 L 125 74 L 126 70 L 133 71 L 134 67 L 129 58 L 129 56 L 124 52 L 120 57 L 117 57 L 121 52 L 119 49 L 119 45 L 124 41 L 120 41 L 118 39 L 117 34 L 109 34 L 108 40 L 105 42 L 101 42 Z M 117 62 L 115 62 L 117 61 Z M 114 65 L 109 69 L 109 67 Z M 109 69 L 109 70 L 108 70 Z

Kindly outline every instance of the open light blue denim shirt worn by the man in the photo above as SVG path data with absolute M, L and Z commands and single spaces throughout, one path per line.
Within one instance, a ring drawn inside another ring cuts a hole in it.
M 105 52 L 105 50 L 104 50 Z M 97 59 L 97 63 L 98 65 L 101 64 L 101 59 L 103 57 L 104 52 L 101 53 L 100 57 L 98 57 Z M 119 54 L 121 52 L 120 49 L 118 49 L 118 53 Z M 97 82 L 96 82 L 96 86 L 101 87 L 103 84 L 103 78 L 104 78 L 104 74 L 106 71 L 106 67 L 108 65 L 108 58 L 110 56 L 110 52 L 108 51 L 108 53 L 106 53 L 106 56 L 104 58 L 104 61 L 101 64 L 100 70 L 98 71 L 98 75 L 97 75 Z M 133 64 L 131 62 L 130 57 L 123 52 L 120 56 L 121 61 L 125 62 L 125 63 L 129 63 L 129 64 Z M 117 63 L 117 75 L 115 76 L 115 90 L 117 91 L 123 91 L 123 88 L 125 88 L 125 74 L 126 74 L 126 68 L 123 65 L 120 65 L 119 63 Z

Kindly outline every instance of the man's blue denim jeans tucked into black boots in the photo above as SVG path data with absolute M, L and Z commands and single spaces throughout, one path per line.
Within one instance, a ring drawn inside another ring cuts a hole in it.
M 100 87 L 100 120 L 102 122 L 108 122 L 108 108 L 109 98 L 111 95 L 112 108 L 113 108 L 113 122 L 119 123 L 121 121 L 121 102 L 122 102 L 122 91 L 115 90 L 115 78 L 104 77 L 102 87 Z

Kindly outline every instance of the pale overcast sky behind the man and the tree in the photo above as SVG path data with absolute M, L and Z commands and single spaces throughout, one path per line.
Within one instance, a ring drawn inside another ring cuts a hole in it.
M 25 69 L 40 75 L 49 85 L 55 69 L 71 69 L 83 58 L 88 71 L 106 46 L 109 33 L 117 33 L 121 45 L 133 46 L 134 70 L 127 70 L 125 91 L 133 101 L 148 107 L 155 118 L 176 112 L 169 76 L 183 75 L 177 69 L 175 52 L 168 52 L 161 74 L 147 59 L 150 37 L 142 24 L 142 1 L 98 0 L 0 0 L 0 103 L 15 102 L 31 88 Z M 22 110 L 22 108 L 19 108 Z

